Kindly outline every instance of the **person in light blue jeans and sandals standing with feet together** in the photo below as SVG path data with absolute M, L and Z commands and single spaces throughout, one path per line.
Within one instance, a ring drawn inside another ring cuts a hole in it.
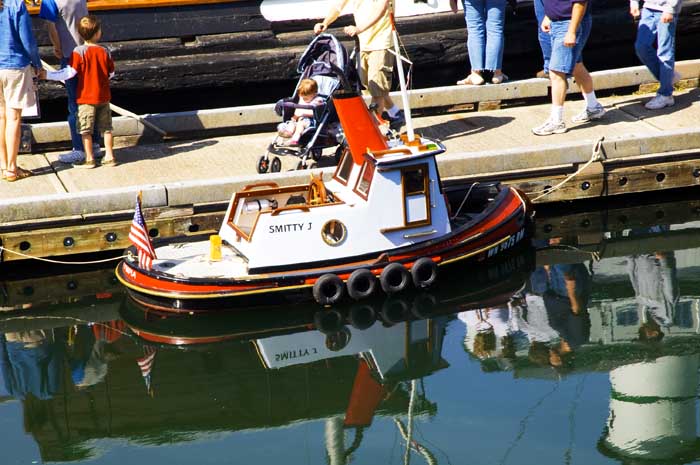
M 503 64 L 506 0 L 462 0 L 467 23 L 467 51 L 471 72 L 457 81 L 462 85 L 481 85 L 490 78 L 493 84 L 508 80 L 501 70 Z M 457 13 L 457 0 L 450 0 Z M 486 75 L 484 71 L 490 71 Z

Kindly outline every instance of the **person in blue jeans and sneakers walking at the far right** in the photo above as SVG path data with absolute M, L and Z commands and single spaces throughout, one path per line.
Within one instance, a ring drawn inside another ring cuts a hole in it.
M 673 84 L 681 78 L 674 70 L 676 64 L 676 24 L 682 0 L 646 0 L 637 29 L 634 50 L 651 74 L 659 81 L 656 96 L 644 107 L 659 110 L 672 106 Z M 630 14 L 639 17 L 639 2 L 630 1 Z M 654 43 L 657 47 L 654 48 Z

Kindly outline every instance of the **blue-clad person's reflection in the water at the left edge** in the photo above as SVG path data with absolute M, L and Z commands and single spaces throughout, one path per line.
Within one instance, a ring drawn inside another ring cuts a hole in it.
M 7 393 L 21 400 L 30 395 L 51 399 L 61 385 L 61 348 L 44 330 L 0 335 L 0 370 Z

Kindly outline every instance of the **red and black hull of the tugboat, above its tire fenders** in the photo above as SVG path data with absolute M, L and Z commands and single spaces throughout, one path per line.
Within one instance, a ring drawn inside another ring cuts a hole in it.
M 314 284 L 333 274 L 347 281 L 360 268 L 379 276 L 388 265 L 406 269 L 422 257 L 431 259 L 442 273 L 449 266 L 470 266 L 495 261 L 507 255 L 530 236 L 529 204 L 513 188 L 500 191 L 492 204 L 472 221 L 438 239 L 394 250 L 349 257 L 344 260 L 312 262 L 304 268 L 293 266 L 250 270 L 241 278 L 187 278 L 138 266 L 125 259 L 117 267 L 118 279 L 142 305 L 158 311 L 195 313 L 250 306 L 276 305 L 309 300 Z M 155 244 L 156 248 L 158 244 Z M 132 250 L 133 255 L 134 251 Z

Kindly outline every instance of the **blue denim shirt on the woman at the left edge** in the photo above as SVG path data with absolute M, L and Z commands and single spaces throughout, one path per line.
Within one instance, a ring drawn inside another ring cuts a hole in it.
M 32 20 L 23 0 L 4 0 L 0 9 L 0 69 L 41 68 Z

